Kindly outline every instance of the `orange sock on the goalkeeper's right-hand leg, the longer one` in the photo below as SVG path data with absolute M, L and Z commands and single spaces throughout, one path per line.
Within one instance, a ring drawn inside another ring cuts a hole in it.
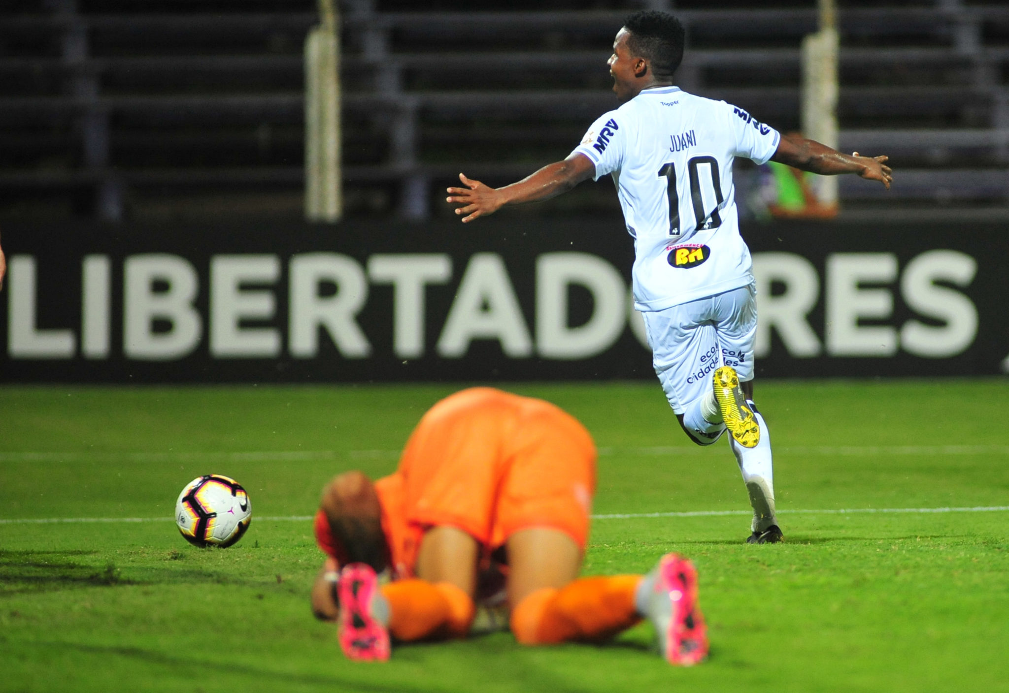
M 604 640 L 637 623 L 635 590 L 641 575 L 583 577 L 560 589 L 538 589 L 512 611 L 522 645 Z

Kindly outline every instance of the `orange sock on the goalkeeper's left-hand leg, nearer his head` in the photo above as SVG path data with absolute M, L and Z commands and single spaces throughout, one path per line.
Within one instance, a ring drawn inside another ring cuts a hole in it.
M 469 595 L 449 582 L 399 580 L 383 585 L 381 594 L 388 601 L 388 632 L 401 641 L 461 638 L 476 611 Z

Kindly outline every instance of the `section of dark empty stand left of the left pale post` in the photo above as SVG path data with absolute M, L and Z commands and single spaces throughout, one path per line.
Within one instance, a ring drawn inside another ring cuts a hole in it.
M 14 4 L 0 18 L 8 211 L 300 210 L 313 3 Z

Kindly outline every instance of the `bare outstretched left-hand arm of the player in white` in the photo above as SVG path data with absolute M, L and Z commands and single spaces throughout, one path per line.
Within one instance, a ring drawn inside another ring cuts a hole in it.
M 448 188 L 445 201 L 461 204 L 455 214 L 466 215 L 462 221 L 472 222 L 477 217 L 492 215 L 504 204 L 522 204 L 550 199 L 567 192 L 582 180 L 595 173 L 593 164 L 584 154 L 572 154 L 563 161 L 544 166 L 531 176 L 504 187 L 490 187 L 479 180 L 471 180 L 462 173 L 459 180 L 466 187 Z

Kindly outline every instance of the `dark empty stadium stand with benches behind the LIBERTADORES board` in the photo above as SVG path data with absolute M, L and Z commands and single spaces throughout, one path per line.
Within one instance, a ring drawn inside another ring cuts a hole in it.
M 314 2 L 4 4 L 0 215 L 300 213 Z M 811 0 L 645 4 L 687 25 L 683 88 L 797 129 Z M 447 215 L 439 190 L 459 170 L 515 179 L 613 107 L 604 63 L 641 2 L 460 6 L 343 3 L 349 214 Z M 1009 219 L 1009 6 L 842 0 L 838 18 L 840 145 L 889 153 L 898 174 L 886 196 L 846 176 L 844 214 Z M 582 187 L 543 210 L 615 212 Z

